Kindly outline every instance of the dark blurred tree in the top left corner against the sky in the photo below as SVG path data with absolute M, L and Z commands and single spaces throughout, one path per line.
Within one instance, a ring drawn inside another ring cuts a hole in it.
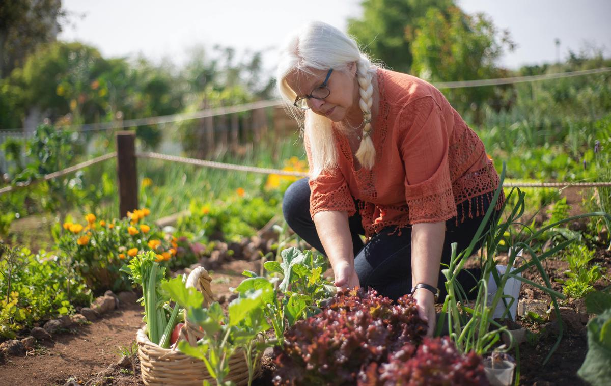
M 53 42 L 65 17 L 61 0 L 2 0 L 0 2 L 0 79 L 41 43 Z

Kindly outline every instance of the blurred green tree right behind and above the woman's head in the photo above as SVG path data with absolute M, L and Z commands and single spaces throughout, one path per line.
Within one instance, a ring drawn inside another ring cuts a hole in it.
M 445 10 L 453 0 L 364 0 L 363 16 L 348 20 L 348 33 L 395 71 L 409 73 L 416 21 L 431 7 Z

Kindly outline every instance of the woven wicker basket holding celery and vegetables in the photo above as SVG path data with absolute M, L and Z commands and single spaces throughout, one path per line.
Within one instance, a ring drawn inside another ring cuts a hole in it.
M 208 307 L 213 299 L 210 281 L 210 275 L 202 267 L 194 269 L 187 279 L 187 286 L 194 286 L 203 294 L 203 307 Z M 185 326 L 181 329 L 178 339 L 186 340 L 189 344 L 195 346 L 197 338 L 202 336 L 203 333 L 199 328 L 185 318 Z M 263 339 L 263 337 L 260 337 L 260 339 Z M 153 343 L 148 339 L 144 327 L 138 330 L 136 341 L 142 382 L 145 385 L 201 386 L 203 381 L 209 381 L 211 384 L 215 383 L 202 360 L 183 354 L 176 348 L 165 349 Z M 243 350 L 236 351 L 230 357 L 229 369 L 229 374 L 225 378 L 227 381 L 233 381 L 237 386 L 248 384 L 248 366 L 244 359 Z M 257 362 L 254 363 L 253 379 L 260 374 L 261 362 L 259 357 Z

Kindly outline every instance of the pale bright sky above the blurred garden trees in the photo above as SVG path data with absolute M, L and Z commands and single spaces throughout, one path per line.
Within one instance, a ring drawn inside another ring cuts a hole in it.
M 610 0 L 457 0 L 467 13 L 486 13 L 508 29 L 517 48 L 499 65 L 555 62 L 569 49 L 603 49 L 611 57 Z M 62 0 L 70 23 L 58 38 L 98 48 L 104 57 L 142 55 L 154 63 L 185 64 L 197 46 L 230 46 L 238 53 L 265 51 L 273 71 L 276 48 L 295 27 L 321 20 L 346 31 L 362 14 L 359 0 Z M 555 39 L 560 40 L 559 50 Z M 384 60 L 384 58 L 380 58 Z

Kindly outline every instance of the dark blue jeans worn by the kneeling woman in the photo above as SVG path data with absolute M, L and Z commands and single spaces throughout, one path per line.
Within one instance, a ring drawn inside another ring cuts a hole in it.
M 476 197 L 472 198 L 472 207 L 475 208 Z M 483 208 L 486 211 L 489 206 L 489 200 L 486 195 L 482 195 L 480 200 L 483 200 Z M 356 202 L 356 200 L 355 200 Z M 481 203 L 480 203 L 481 205 Z M 469 208 L 468 203 L 464 205 Z M 288 187 L 284 194 L 282 202 L 282 211 L 288 225 L 302 239 L 307 241 L 312 247 L 326 256 L 323 245 L 320 242 L 316 227 L 310 217 L 310 186 L 307 178 L 302 178 Z M 463 216 L 463 205 L 458 206 L 458 219 Z M 485 213 L 485 212 L 484 212 Z M 497 213 L 498 216 L 498 213 Z M 441 262 L 444 264 L 450 263 L 452 257 L 451 244 L 458 243 L 457 251 L 460 252 L 469 246 L 473 239 L 477 228 L 480 226 L 482 217 L 469 218 L 468 214 L 464 222 L 458 222 L 456 225 L 456 217 L 452 217 L 445 222 L 445 238 L 444 247 L 441 255 Z M 405 227 L 401 229 L 401 236 L 388 235 L 395 229 L 395 226 L 390 226 L 382 229 L 373 235 L 367 244 L 363 244 L 359 235 L 364 235 L 365 230 L 361 224 L 360 214 L 348 217 L 350 233 L 354 247 L 354 269 L 359 276 L 360 286 L 367 288 L 371 287 L 378 291 L 378 294 L 388 296 L 390 299 L 398 299 L 404 294 L 408 294 L 412 288 L 412 272 L 411 272 L 411 243 L 412 229 Z M 485 228 L 488 230 L 489 225 Z M 481 244 L 475 247 L 477 250 Z M 445 277 L 439 268 L 439 282 L 437 286 L 440 290 L 440 300 L 445 297 Z M 469 292 L 477 284 L 480 279 L 481 270 L 463 269 L 458 275 L 458 282 L 461 283 L 464 290 Z M 475 297 L 477 293 L 472 291 L 467 294 L 469 297 Z

